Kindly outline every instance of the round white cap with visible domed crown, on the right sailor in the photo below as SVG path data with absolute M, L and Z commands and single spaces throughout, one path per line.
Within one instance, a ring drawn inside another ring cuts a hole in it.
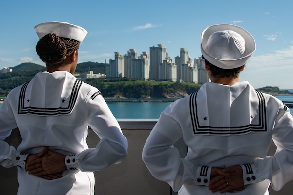
M 201 52 L 211 64 L 233 69 L 246 64 L 256 49 L 252 35 L 232 24 L 216 24 L 201 34 Z

